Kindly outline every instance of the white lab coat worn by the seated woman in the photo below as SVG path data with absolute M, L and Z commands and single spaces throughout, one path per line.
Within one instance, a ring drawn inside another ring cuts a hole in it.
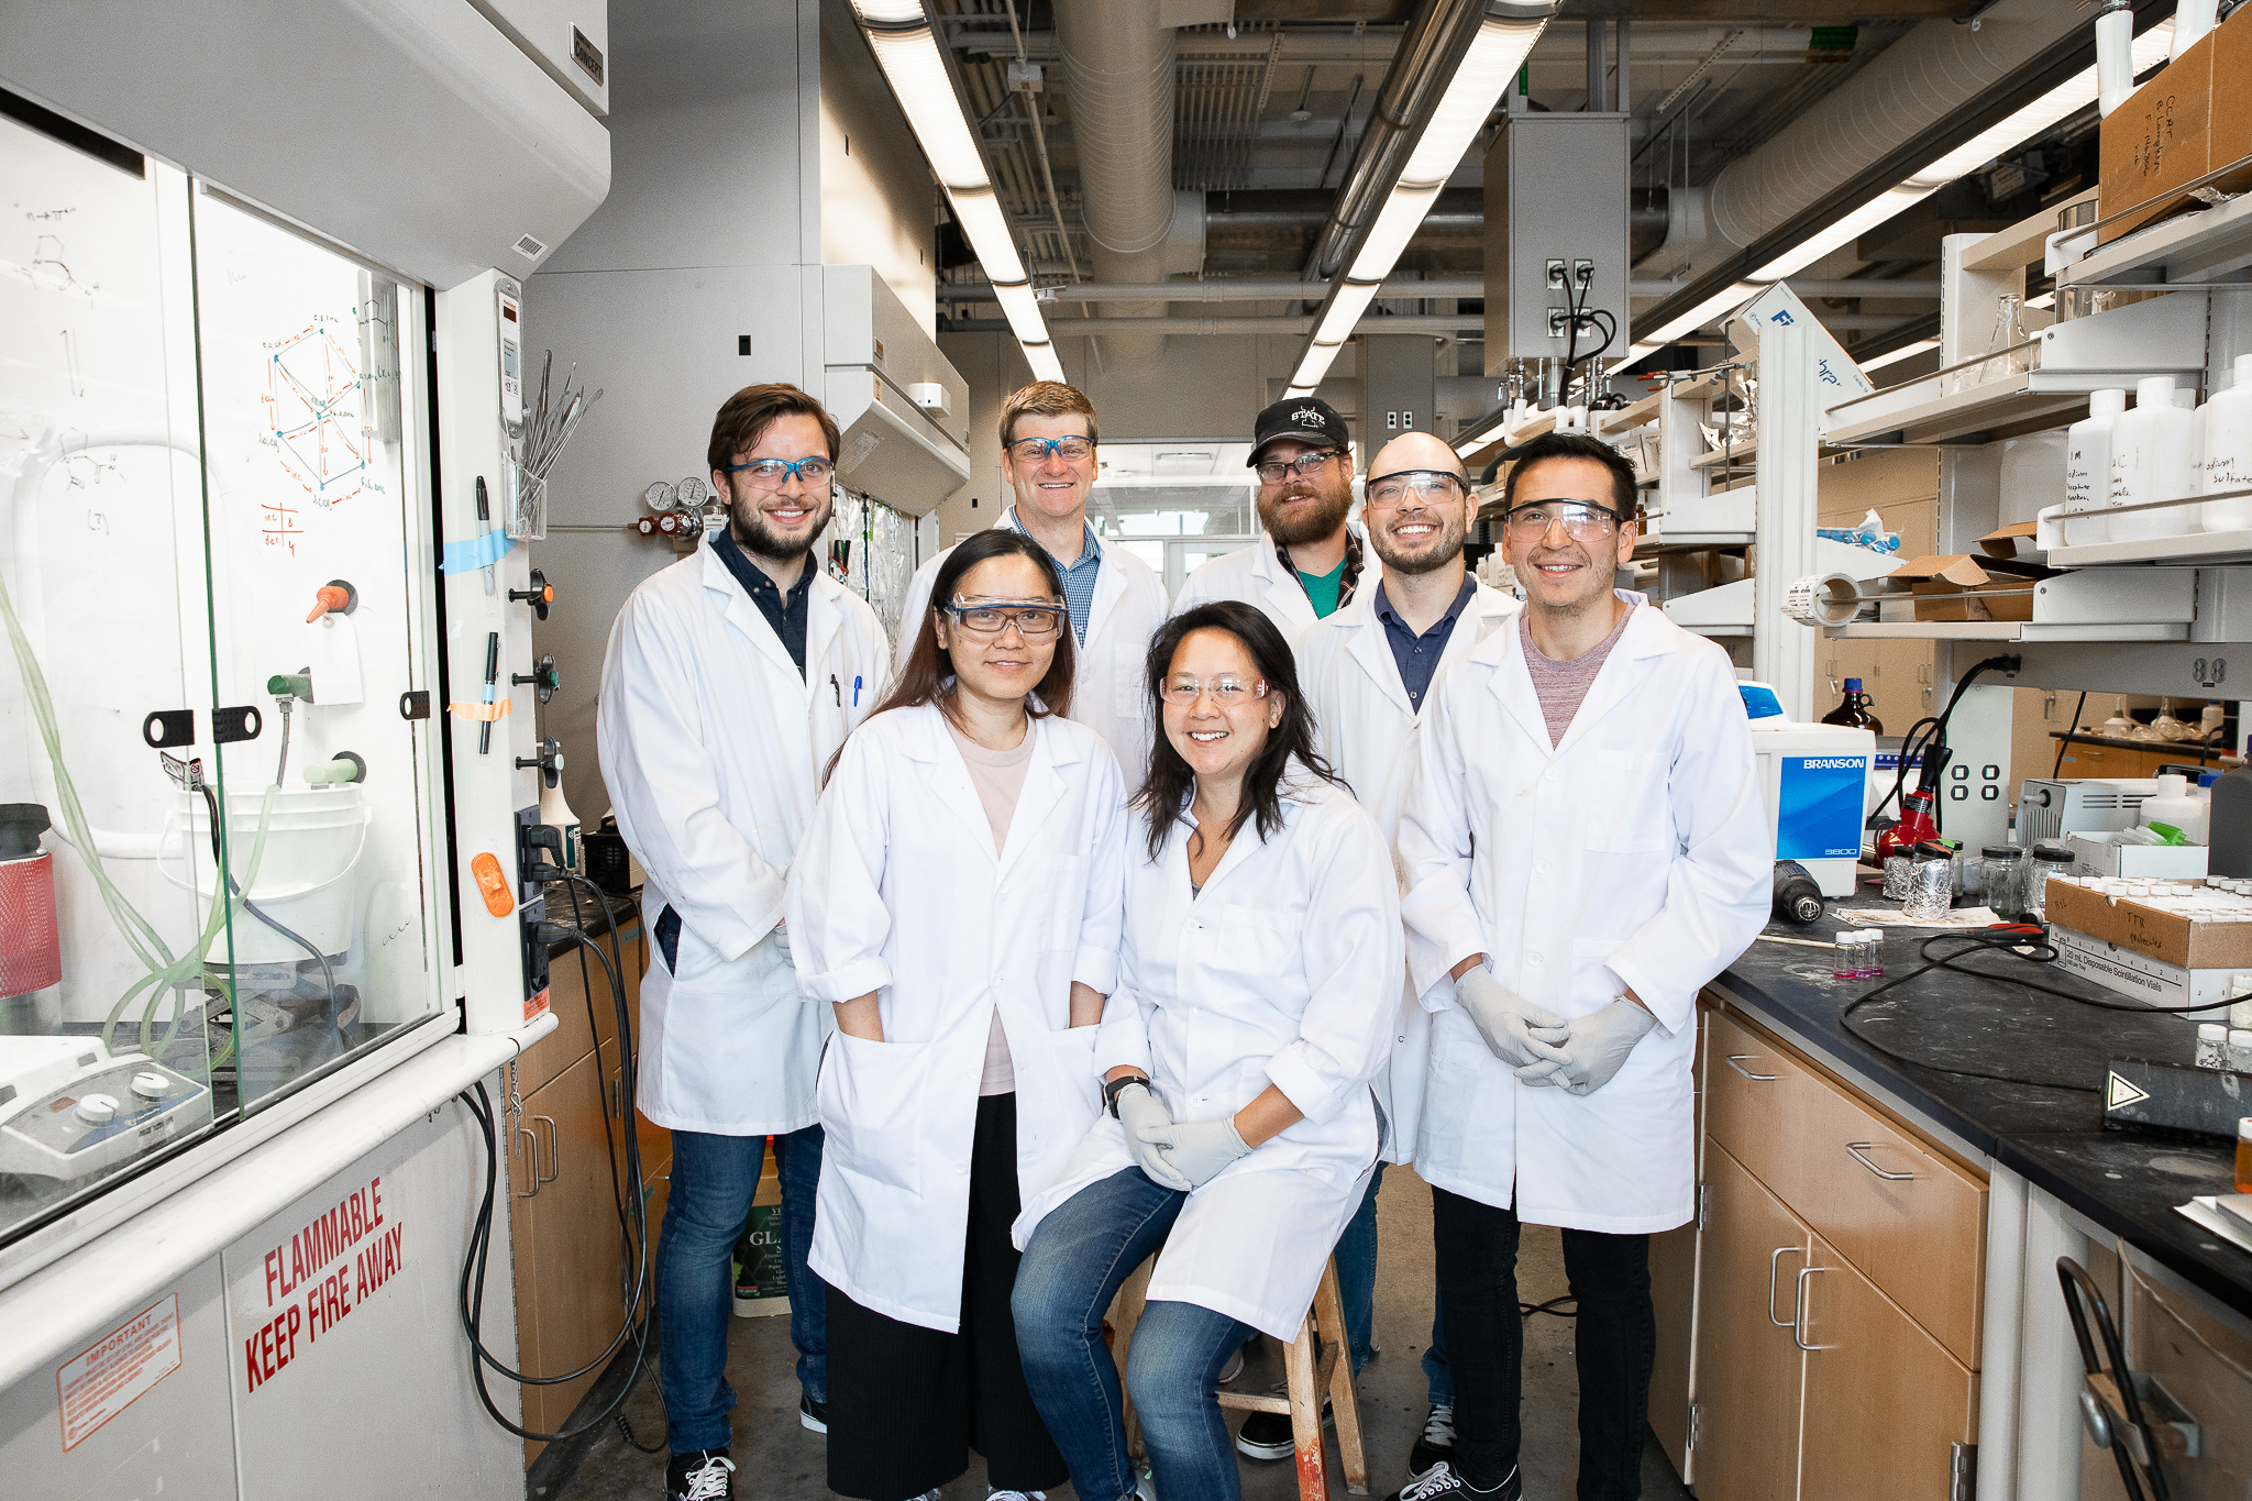
M 1398 887 L 1383 833 L 1340 788 L 1306 779 L 1284 828 L 1236 835 L 1189 893 L 1189 824 L 1158 860 L 1144 828 L 1126 875 L 1119 988 L 1097 1071 L 1144 1069 L 1178 1121 L 1212 1121 L 1279 1087 L 1306 1118 L 1196 1188 L 1149 1296 L 1196 1303 L 1277 1339 L 1297 1334 L 1331 1247 L 1376 1166 L 1369 1080 L 1392 1042 L 1401 972 Z M 1133 1166 L 1108 1114 L 1047 1193 L 1027 1197 L 1018 1244 L 1081 1188 Z

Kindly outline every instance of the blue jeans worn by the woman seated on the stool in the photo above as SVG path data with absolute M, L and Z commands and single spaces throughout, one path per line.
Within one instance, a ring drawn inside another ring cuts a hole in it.
M 1164 1244 L 1189 1195 L 1121 1168 L 1040 1220 L 1016 1269 L 1016 1346 L 1031 1400 L 1083 1501 L 1133 1496 L 1126 1409 L 1103 1312 Z M 1149 1303 L 1126 1355 L 1142 1442 L 1164 1501 L 1239 1501 L 1236 1454 L 1212 1388 L 1248 1323 L 1196 1303 Z

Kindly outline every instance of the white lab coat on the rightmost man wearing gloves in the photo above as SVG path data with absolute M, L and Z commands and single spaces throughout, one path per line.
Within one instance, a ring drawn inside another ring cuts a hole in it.
M 1432 1017 L 1417 1172 L 1520 1220 L 1619 1235 L 1689 1220 L 1696 995 L 1768 920 L 1775 842 L 1727 653 L 1644 596 L 1563 743 L 1495 630 L 1423 713 L 1401 808 L 1407 970 Z M 1448 970 L 1561 1017 L 1626 986 L 1657 1017 L 1590 1096 L 1520 1085 Z

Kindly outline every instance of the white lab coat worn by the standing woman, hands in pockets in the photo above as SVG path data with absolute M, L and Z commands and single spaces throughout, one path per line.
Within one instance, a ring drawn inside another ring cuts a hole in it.
M 1094 1026 L 1072 981 L 1117 986 L 1126 788 L 1085 725 L 1034 720 L 1031 763 L 993 826 L 939 709 L 878 713 L 847 740 L 790 866 L 808 999 L 876 992 L 883 1042 L 835 1033 L 820 1069 L 811 1267 L 860 1307 L 962 1325 L 971 1143 L 986 1033 L 1016 1064 L 1018 1193 L 1063 1172 L 1101 1114 Z

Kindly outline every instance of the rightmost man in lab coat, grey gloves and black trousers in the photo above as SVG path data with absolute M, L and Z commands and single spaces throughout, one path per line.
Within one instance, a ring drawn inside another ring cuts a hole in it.
M 1502 556 L 1527 605 L 1435 689 L 1401 806 L 1455 1456 L 1396 1501 L 1522 1494 L 1522 1220 L 1563 1229 L 1579 1298 L 1579 1496 L 1642 1494 L 1648 1238 L 1691 1215 L 1696 997 L 1766 923 L 1775 842 L 1727 655 L 1612 587 L 1633 509 L 1597 439 L 1518 452 Z

